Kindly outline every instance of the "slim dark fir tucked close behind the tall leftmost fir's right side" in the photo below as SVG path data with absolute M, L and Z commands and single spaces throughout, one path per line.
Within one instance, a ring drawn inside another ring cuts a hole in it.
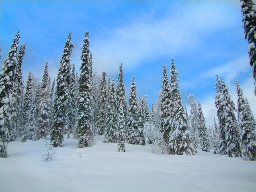
M 20 45 L 20 49 L 18 51 L 18 65 L 16 67 L 16 75 L 15 75 L 15 83 L 14 89 L 16 90 L 16 113 L 17 113 L 17 134 L 22 135 L 23 133 L 23 79 L 22 79 L 22 64 L 23 64 L 23 57 L 25 55 L 25 47 L 26 44 Z

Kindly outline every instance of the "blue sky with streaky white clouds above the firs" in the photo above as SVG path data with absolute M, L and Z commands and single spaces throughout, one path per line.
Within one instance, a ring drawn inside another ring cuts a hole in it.
M 116 80 L 123 63 L 127 95 L 134 76 L 138 94 L 148 95 L 149 105 L 156 103 L 163 64 L 170 70 L 173 57 L 184 105 L 190 93 L 195 95 L 207 125 L 216 115 L 216 73 L 226 81 L 235 103 L 234 79 L 238 79 L 255 116 L 240 9 L 239 0 L 0 0 L 0 65 L 20 28 L 20 42 L 26 43 L 25 81 L 29 71 L 41 78 L 45 61 L 53 79 L 72 31 L 71 62 L 79 71 L 82 40 L 89 30 L 93 70 L 101 74 L 105 69 Z

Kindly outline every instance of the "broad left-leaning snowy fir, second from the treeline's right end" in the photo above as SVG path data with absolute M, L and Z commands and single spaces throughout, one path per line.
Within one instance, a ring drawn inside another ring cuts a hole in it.
M 229 95 L 225 82 L 218 77 L 216 78 L 215 106 L 217 108 L 219 131 L 221 134 L 218 154 L 240 157 L 238 121 L 234 114 L 234 111 L 236 111 L 235 104 Z

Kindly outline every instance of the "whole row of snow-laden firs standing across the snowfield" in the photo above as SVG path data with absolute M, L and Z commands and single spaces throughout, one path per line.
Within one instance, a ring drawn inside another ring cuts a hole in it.
M 178 71 L 171 61 L 170 82 L 167 68 L 163 68 L 162 89 L 156 105 L 148 109 L 145 97 L 137 97 L 135 78 L 132 78 L 127 104 L 123 66 L 119 66 L 117 86 L 114 79 L 106 81 L 92 73 L 92 53 L 89 32 L 84 36 L 80 75 L 71 65 L 74 44 L 71 32 L 63 48 L 60 67 L 51 83 L 48 64 L 45 63 L 39 83 L 29 72 L 25 94 L 22 81 L 22 63 L 25 44 L 20 45 L 17 32 L 0 73 L 0 157 L 7 157 L 9 141 L 21 137 L 38 140 L 51 138 L 53 147 L 61 147 L 64 135 L 78 139 L 78 147 L 88 147 L 94 135 L 104 135 L 103 142 L 118 143 L 118 151 L 125 152 L 125 142 L 152 144 L 151 150 L 160 154 L 194 155 L 197 149 L 230 157 L 256 159 L 256 123 L 249 103 L 238 81 L 238 120 L 235 105 L 225 82 L 217 77 L 214 127 L 207 129 L 201 104 L 194 95 L 188 97 L 190 113 L 183 106 L 179 89 Z M 54 95 L 54 97 L 53 97 Z

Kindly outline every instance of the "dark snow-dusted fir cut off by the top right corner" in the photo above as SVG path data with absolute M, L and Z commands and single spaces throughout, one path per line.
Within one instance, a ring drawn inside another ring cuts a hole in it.
M 254 78 L 254 94 L 256 95 L 256 5 L 252 0 L 240 0 L 242 6 L 242 21 L 244 38 L 249 42 L 250 65 Z

